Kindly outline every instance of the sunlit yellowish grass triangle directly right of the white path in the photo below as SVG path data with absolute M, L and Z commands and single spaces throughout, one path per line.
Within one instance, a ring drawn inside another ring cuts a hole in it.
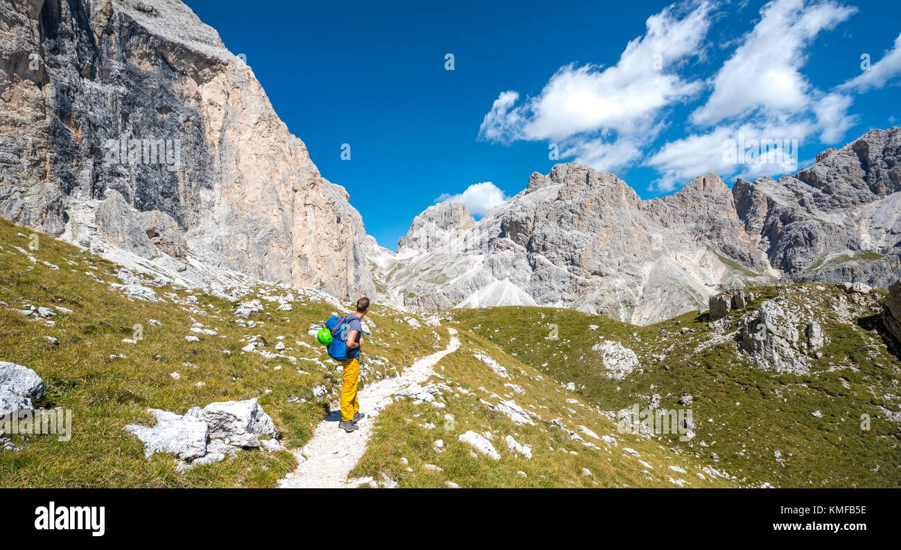
M 378 480 L 385 474 L 401 487 L 444 487 L 446 482 L 460 487 L 673 487 L 678 480 L 690 487 L 732 484 L 705 470 L 709 461 L 678 455 L 648 437 L 619 434 L 613 420 L 583 400 L 567 401 L 578 396 L 505 354 L 486 338 L 461 332 L 460 341 L 460 349 L 435 366 L 436 374 L 430 380 L 450 388 L 436 399 L 444 407 L 412 399 L 389 405 L 379 416 L 369 449 L 351 475 Z M 510 378 L 494 373 L 474 353 L 494 358 L 505 366 Z M 505 383 L 521 386 L 524 393 L 512 391 Z M 499 401 L 492 394 L 514 400 L 523 409 L 536 413 L 539 418 L 535 425 L 515 424 L 504 414 L 489 409 L 484 401 Z M 452 421 L 445 417 L 447 414 L 453 417 Z M 551 419 L 562 419 L 566 429 L 553 428 Z M 584 433 L 578 435 L 596 448 L 570 439 L 569 430 L 578 431 L 579 426 L 599 437 L 614 437 L 616 445 Z M 488 432 L 501 459 L 471 455 L 472 447 L 458 441 L 467 430 Z M 509 450 L 504 440 L 508 435 L 520 445 L 531 446 L 532 458 Z M 443 449 L 434 446 L 438 439 L 444 442 Z M 640 456 L 624 452 L 625 447 Z M 437 465 L 443 472 L 434 472 L 423 464 Z M 670 470 L 669 466 L 684 472 Z M 583 473 L 582 468 L 587 468 L 590 475 Z

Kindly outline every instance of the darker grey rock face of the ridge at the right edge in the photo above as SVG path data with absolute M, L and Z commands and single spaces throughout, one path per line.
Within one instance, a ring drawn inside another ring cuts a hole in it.
M 795 282 L 886 288 L 901 269 L 901 128 L 869 131 L 778 181 L 739 179 L 739 216 Z

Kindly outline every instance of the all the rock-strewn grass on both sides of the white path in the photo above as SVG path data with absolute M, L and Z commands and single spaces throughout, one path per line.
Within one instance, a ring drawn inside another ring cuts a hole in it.
M 38 250 L 29 251 L 30 235 L 0 221 L 0 302 L 6 304 L 0 304 L 0 360 L 41 375 L 47 391 L 37 406 L 72 410 L 73 434 L 67 442 L 53 436 L 11 436 L 21 451 L 0 452 L 0 487 L 272 487 L 295 467 L 287 452 L 242 451 L 223 463 L 177 474 L 173 457 L 145 460 L 141 442 L 123 428 L 151 425 L 149 408 L 184 413 L 213 401 L 256 397 L 283 442 L 289 448 L 303 446 L 339 390 L 337 365 L 306 334 L 309 325 L 332 314 L 332 305 L 311 300 L 294 302 L 294 311 L 276 311 L 276 303 L 263 300 L 266 311 L 251 314 L 257 326 L 250 328 L 233 317 L 236 304 L 182 287 L 155 289 L 166 302 L 132 301 L 110 288 L 117 282 L 114 264 L 47 236 L 41 236 Z M 778 295 L 796 310 L 810 306 L 805 319 L 819 320 L 829 338 L 822 358 L 811 356 L 810 374 L 777 374 L 753 366 L 734 334 L 709 329 L 698 311 L 648 327 L 554 308 L 448 311 L 447 320 L 460 329 L 462 346 L 436 365 L 431 380 L 445 384 L 437 397 L 444 407 L 411 399 L 389 405 L 352 475 L 380 480 L 385 474 L 404 487 L 443 487 L 445 482 L 463 487 L 671 487 L 673 479 L 691 487 L 901 485 L 898 422 L 887 418 L 887 411 L 901 410 L 901 361 L 887 349 L 883 335 L 873 331 L 878 329 L 878 303 L 848 298 L 829 284 L 750 290 L 757 299 L 747 310 L 730 313 L 733 327 L 760 302 Z M 260 286 L 246 299 L 285 292 Z M 15 311 L 25 303 L 73 312 L 60 313 L 50 327 Z M 372 307 L 364 386 L 447 346 L 445 329 L 424 324 L 413 329 L 404 321 L 407 316 L 378 304 Z M 195 321 L 217 336 L 185 340 Z M 132 338 L 135 324 L 141 324 L 143 338 L 123 343 Z M 258 335 L 268 351 L 279 336 L 285 337 L 282 353 L 297 357 L 296 365 L 287 358 L 242 353 L 247 338 Z M 44 336 L 57 338 L 59 346 Z M 606 378 L 600 354 L 591 349 L 605 339 L 633 349 L 640 367 L 623 380 Z M 477 352 L 504 365 L 510 378 L 495 374 L 474 356 Z M 665 358 L 655 360 L 661 354 Z M 172 372 L 180 379 L 174 380 Z M 196 387 L 198 382 L 205 386 Z M 576 392 L 564 389 L 570 382 Z M 524 393 L 505 383 L 521 386 Z M 316 400 L 314 387 L 319 385 L 327 393 Z M 695 438 L 619 433 L 615 411 L 633 403 L 643 407 L 652 393 L 660 394 L 664 409 L 680 408 L 681 395 L 694 396 Z M 293 397 L 305 402 L 290 402 L 296 401 Z M 500 398 L 532 411 L 535 425 L 515 424 L 483 402 Z M 573 399 L 578 402 L 568 401 Z M 815 410 L 823 418 L 814 417 Z M 452 423 L 445 414 L 453 416 Z M 861 415 L 869 415 L 869 430 L 860 428 Z M 560 419 L 564 429 L 555 428 L 553 419 Z M 579 435 L 595 447 L 572 440 L 569 430 L 579 426 L 614 437 L 617 445 L 586 434 Z M 470 429 L 493 437 L 499 461 L 470 455 L 470 447 L 458 441 Z M 507 435 L 532 446 L 532 459 L 509 451 Z M 443 450 L 433 445 L 437 439 L 444 441 Z M 624 447 L 641 456 L 624 453 Z M 438 465 L 443 472 L 423 464 Z M 730 477 L 712 475 L 710 468 Z

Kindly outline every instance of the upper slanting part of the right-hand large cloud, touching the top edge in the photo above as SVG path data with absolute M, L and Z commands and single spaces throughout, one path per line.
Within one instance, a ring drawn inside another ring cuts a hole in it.
M 763 6 L 761 18 L 714 77 L 714 91 L 691 115 L 696 124 L 715 124 L 749 115 L 764 116 L 807 109 L 812 86 L 799 69 L 805 48 L 819 32 L 832 29 L 856 12 L 833 2 L 776 0 Z

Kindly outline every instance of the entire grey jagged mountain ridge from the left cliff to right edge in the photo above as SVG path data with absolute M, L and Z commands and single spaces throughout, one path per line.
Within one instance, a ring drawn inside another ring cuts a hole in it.
M 380 293 L 398 306 L 550 305 L 636 324 L 704 309 L 746 284 L 887 287 L 901 257 L 901 129 L 869 131 L 778 181 L 716 174 L 642 201 L 575 163 L 476 222 L 460 203 L 417 216 L 396 254 L 369 245 Z

